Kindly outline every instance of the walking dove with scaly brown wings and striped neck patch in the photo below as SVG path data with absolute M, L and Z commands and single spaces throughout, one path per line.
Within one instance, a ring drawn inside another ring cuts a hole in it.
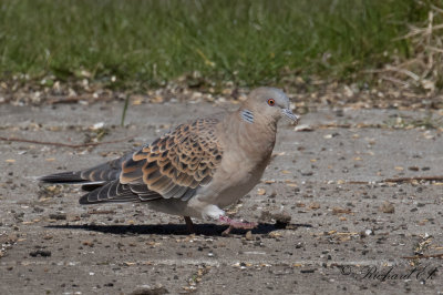
M 81 184 L 80 204 L 143 202 L 151 210 L 254 228 L 224 207 L 236 203 L 260 181 L 271 159 L 277 123 L 298 122 L 279 89 L 253 90 L 237 111 L 196 119 L 120 159 L 73 172 L 40 177 L 43 183 Z

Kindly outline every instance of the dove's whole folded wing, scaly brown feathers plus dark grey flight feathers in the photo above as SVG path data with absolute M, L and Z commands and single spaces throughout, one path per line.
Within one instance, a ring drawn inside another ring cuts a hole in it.
M 107 182 L 106 171 L 115 173 L 115 170 L 103 172 L 101 165 L 86 170 L 87 173 L 84 171 L 82 175 L 89 180 L 107 183 L 83 195 L 80 203 L 190 199 L 198 187 L 212 181 L 222 162 L 223 150 L 216 136 L 218 122 L 217 119 L 198 119 L 177 126 L 115 162 L 120 165 L 119 179 L 111 182 Z

